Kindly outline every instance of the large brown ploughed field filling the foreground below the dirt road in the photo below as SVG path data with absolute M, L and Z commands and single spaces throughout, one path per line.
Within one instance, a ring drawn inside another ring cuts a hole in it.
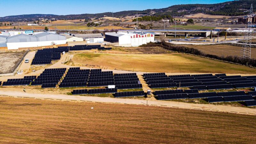
M 93 109 L 91 109 L 93 107 Z M 254 143 L 256 117 L 0 97 L 0 143 Z

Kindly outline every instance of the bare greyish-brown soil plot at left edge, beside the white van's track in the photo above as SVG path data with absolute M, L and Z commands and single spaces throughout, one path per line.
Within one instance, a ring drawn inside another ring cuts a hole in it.
M 12 73 L 25 52 L 0 52 L 0 74 Z

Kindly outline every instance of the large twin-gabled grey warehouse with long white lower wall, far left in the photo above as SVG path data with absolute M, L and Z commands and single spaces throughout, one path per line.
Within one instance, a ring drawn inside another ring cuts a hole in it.
M 48 32 L 39 33 L 36 35 L 19 34 L 15 36 L 1 36 L 0 47 L 7 47 L 8 50 L 38 47 L 57 44 L 66 44 L 66 36 L 52 34 Z

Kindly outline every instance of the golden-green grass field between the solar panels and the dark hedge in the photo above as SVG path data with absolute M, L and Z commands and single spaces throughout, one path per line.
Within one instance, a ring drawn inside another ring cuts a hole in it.
M 224 63 L 188 54 L 122 54 L 82 52 L 71 62 L 92 68 L 168 73 L 229 73 L 255 74 L 254 68 Z

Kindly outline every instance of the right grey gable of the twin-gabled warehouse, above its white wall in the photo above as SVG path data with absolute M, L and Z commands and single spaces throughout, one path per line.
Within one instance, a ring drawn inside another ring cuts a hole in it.
M 38 42 L 42 41 L 58 41 L 58 40 L 66 40 L 66 36 L 52 34 L 52 33 L 39 33 L 35 35 L 37 37 Z

